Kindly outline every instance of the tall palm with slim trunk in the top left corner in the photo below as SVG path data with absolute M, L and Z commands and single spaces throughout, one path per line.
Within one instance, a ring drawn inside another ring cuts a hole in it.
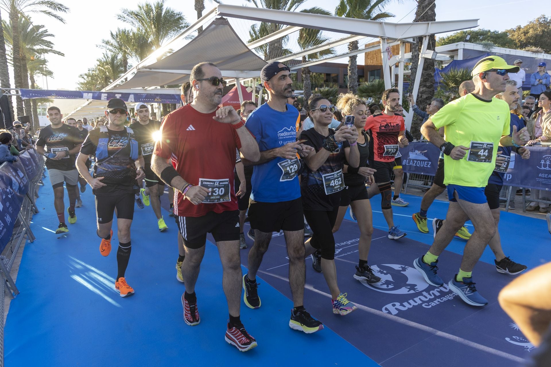
M 69 8 L 61 3 L 53 0 L 0 0 L 0 9 L 9 13 L 10 24 L 14 27 L 12 32 L 14 35 L 19 35 L 18 21 L 19 17 L 26 17 L 26 13 L 42 13 L 55 18 L 62 23 L 65 20 L 57 13 L 67 13 Z M 19 37 L 13 39 L 13 50 L 20 50 Z M 13 79 L 16 88 L 23 88 L 23 66 L 21 65 L 20 54 L 13 52 Z M 28 83 L 27 83 L 28 84 Z M 23 114 L 23 100 L 21 97 L 15 97 L 15 105 L 17 113 Z M 30 114 L 30 111 L 28 111 Z

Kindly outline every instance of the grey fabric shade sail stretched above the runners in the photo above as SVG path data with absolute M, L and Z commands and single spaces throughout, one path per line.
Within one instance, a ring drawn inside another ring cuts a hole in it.
M 247 78 L 250 72 L 260 76 L 260 70 L 266 65 L 241 41 L 227 19 L 217 18 L 185 46 L 138 69 L 132 79 L 111 90 L 182 84 L 189 80 L 193 66 L 204 61 L 216 64 L 222 76 L 230 78 Z

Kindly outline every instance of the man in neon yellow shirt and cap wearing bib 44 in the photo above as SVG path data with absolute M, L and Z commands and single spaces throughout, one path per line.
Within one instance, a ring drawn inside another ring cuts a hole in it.
M 507 65 L 503 58 L 481 59 L 472 72 L 475 89 L 442 107 L 421 128 L 428 140 L 444 152 L 444 183 L 447 185 L 450 207 L 446 221 L 437 231 L 429 251 L 414 261 L 415 268 L 434 286 L 444 282 L 437 275 L 437 259 L 467 218 L 474 224 L 474 233 L 464 249 L 461 267 L 450 280 L 449 287 L 464 302 L 483 306 L 488 301 L 480 295 L 472 278 L 474 265 L 495 234 L 484 187 L 495 167 L 498 144 L 520 146 L 529 139 L 526 129 L 510 133 L 510 112 L 505 101 L 493 98 L 505 90 L 507 72 L 518 67 Z M 444 127 L 445 139 L 437 129 Z M 466 158 L 465 158 L 466 156 Z

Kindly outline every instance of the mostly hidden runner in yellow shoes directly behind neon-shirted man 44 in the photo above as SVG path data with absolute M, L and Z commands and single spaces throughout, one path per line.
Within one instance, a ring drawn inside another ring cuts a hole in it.
M 466 96 L 467 94 L 474 91 L 474 83 L 472 80 L 463 81 L 459 86 L 459 95 L 461 97 Z M 412 98 L 413 99 L 413 98 Z M 444 138 L 444 128 L 440 128 L 438 133 L 442 138 Z M 440 152 L 440 157 L 438 158 L 438 167 L 436 168 L 436 174 L 434 175 L 433 184 L 430 189 L 426 191 L 421 200 L 420 210 L 417 213 L 413 213 L 412 218 L 415 222 L 415 225 L 419 231 L 423 233 L 429 233 L 429 227 L 426 225 L 426 213 L 429 211 L 429 207 L 433 204 L 434 200 L 444 192 L 446 185 L 444 184 L 444 153 Z M 438 223 L 438 222 L 433 222 Z M 433 228 L 433 235 L 436 235 L 436 229 Z M 455 237 L 461 239 L 471 238 L 471 233 L 469 233 L 467 227 L 463 226 L 457 231 Z

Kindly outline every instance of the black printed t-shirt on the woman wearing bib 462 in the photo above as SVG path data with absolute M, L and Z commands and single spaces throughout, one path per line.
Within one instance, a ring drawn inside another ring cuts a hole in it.
M 333 129 L 329 129 L 329 135 L 334 135 Z M 305 140 L 305 145 L 314 147 L 316 153 L 323 149 L 323 136 L 311 128 L 300 133 L 299 140 Z M 326 185 L 323 182 L 323 176 L 343 169 L 345 155 L 344 148 L 349 147 L 348 141 L 339 143 L 339 149 L 329 154 L 329 157 L 317 171 L 312 171 L 306 165 L 302 172 L 300 182 L 300 191 L 302 195 L 302 207 L 304 210 L 323 210 L 331 211 L 341 204 L 341 193 L 337 191 L 332 194 L 326 194 Z M 328 176 L 326 176 L 328 177 Z M 327 180 L 327 178 L 326 178 Z

